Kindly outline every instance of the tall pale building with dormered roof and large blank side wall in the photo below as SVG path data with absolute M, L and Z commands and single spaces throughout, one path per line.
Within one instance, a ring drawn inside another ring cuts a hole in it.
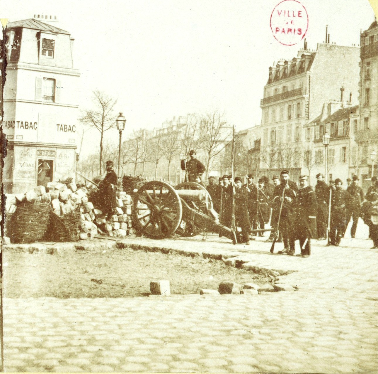
M 305 42 L 297 57 L 269 68 L 260 102 L 261 174 L 271 177 L 285 168 L 294 181 L 311 174 L 308 160 L 314 159 L 315 134 L 305 134 L 304 126 L 318 117 L 325 102 L 339 100 L 341 86 L 357 104 L 358 64 L 359 47 L 319 43 L 316 51 L 310 51 Z

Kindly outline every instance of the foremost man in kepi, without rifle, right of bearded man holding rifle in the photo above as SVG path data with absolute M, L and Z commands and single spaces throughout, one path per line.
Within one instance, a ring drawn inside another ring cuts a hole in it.
M 296 198 L 296 237 L 301 247 L 300 257 L 309 257 L 311 254 L 311 238 L 317 236 L 316 231 L 316 196 L 308 185 L 308 176 L 299 177 L 299 191 Z

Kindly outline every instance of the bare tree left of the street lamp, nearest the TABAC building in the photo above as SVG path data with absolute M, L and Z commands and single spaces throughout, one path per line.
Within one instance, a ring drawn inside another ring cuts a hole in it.
M 99 90 L 93 91 L 93 104 L 95 109 L 85 109 L 80 121 L 87 126 L 96 128 L 100 134 L 100 174 L 102 173 L 102 142 L 104 132 L 115 126 L 116 115 L 113 111 L 117 100 Z

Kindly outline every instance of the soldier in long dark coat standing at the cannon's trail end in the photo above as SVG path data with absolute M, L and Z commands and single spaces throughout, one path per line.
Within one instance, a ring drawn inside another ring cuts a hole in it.
M 243 242 L 249 245 L 248 191 L 242 178 L 235 178 L 235 224 L 242 229 Z

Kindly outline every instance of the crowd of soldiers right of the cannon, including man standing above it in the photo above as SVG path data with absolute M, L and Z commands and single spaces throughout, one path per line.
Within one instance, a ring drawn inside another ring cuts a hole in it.
M 189 181 L 200 183 L 205 167 L 195 159 L 181 161 Z M 352 218 L 351 237 L 354 238 L 358 218 L 362 217 L 369 226 L 369 237 L 373 248 L 378 248 L 378 181 L 372 178 L 372 185 L 366 196 L 358 185 L 358 176 L 347 179 L 347 189 L 342 188 L 341 179 L 331 180 L 329 185 L 324 175 L 316 175 L 315 188 L 311 187 L 307 175 L 299 177 L 299 186 L 290 180 L 288 170 L 273 176 L 270 181 L 263 176 L 254 183 L 254 176 L 247 176 L 243 184 L 240 177 L 232 180 L 230 175 L 221 178 L 209 177 L 206 187 L 219 214 L 220 223 L 228 228 L 239 228 L 242 243 L 249 245 L 250 236 L 263 236 L 270 231 L 269 242 L 283 242 L 280 254 L 294 255 L 295 241 L 299 240 L 301 254 L 311 254 L 311 238 L 325 240 L 327 245 L 339 246 L 341 238 Z M 234 201 L 234 205 L 232 202 Z M 234 219 L 233 219 L 234 218 Z M 271 229 L 265 229 L 270 222 Z M 273 246 L 272 246 L 273 248 Z

